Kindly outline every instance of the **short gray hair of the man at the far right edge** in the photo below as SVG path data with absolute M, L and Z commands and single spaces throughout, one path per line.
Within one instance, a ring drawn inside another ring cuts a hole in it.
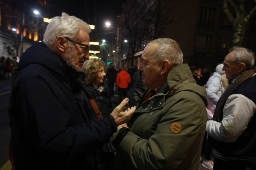
M 250 49 L 246 49 L 243 47 L 233 47 L 230 49 L 230 52 L 235 52 L 234 60 L 232 62 L 244 63 L 245 69 L 252 69 L 255 62 L 255 54 Z

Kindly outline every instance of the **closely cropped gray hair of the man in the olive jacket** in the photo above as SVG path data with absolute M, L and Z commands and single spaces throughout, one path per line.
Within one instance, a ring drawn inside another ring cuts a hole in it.
M 180 49 L 180 45 L 170 38 L 158 38 L 150 41 L 148 44 L 158 43 L 158 47 L 154 51 L 153 55 L 156 61 L 161 62 L 168 60 L 173 67 L 182 65 L 183 53 Z

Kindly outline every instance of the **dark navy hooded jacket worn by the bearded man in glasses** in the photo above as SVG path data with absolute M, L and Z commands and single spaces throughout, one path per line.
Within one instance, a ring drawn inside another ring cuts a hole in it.
M 9 105 L 16 169 L 96 169 L 95 151 L 117 127 L 112 116 L 89 118 L 81 102 L 84 73 L 44 43 L 27 49 L 18 69 Z

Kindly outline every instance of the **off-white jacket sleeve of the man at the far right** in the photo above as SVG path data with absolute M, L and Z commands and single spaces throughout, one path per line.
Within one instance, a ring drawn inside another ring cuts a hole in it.
M 247 128 L 256 109 L 252 100 L 242 94 L 233 94 L 228 97 L 221 122 L 209 120 L 206 123 L 206 132 L 218 141 L 235 142 Z

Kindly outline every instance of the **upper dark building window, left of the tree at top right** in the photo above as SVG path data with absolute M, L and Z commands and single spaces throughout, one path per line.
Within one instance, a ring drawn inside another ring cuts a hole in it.
M 208 8 L 200 8 L 199 25 L 214 25 L 215 11 Z

